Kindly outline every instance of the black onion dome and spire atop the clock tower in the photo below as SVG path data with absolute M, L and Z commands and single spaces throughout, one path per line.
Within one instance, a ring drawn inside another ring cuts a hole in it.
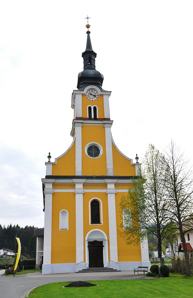
M 90 25 L 87 25 L 86 27 L 89 29 Z M 78 74 L 77 88 L 79 90 L 84 90 L 84 88 L 89 85 L 95 85 L 103 90 L 102 84 L 104 77 L 103 74 L 95 69 L 96 53 L 92 49 L 90 31 L 87 31 L 87 45 L 85 51 L 82 53 L 82 57 L 84 60 L 84 70 Z

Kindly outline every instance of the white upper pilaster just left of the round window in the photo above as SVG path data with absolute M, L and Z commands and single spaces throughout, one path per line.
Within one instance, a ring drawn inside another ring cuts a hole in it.
M 76 175 L 82 175 L 82 123 L 75 124 Z

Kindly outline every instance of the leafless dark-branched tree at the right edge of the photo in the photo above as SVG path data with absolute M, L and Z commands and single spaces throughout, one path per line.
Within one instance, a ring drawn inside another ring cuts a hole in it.
M 185 233 L 193 230 L 193 173 L 189 160 L 184 159 L 180 148 L 171 141 L 166 151 L 165 187 L 168 193 L 170 218 L 176 223 L 182 240 L 186 275 L 191 274 Z

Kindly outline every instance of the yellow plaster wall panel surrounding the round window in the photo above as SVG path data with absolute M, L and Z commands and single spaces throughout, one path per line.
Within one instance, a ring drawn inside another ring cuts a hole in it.
M 103 154 L 99 158 L 90 158 L 85 153 L 85 147 L 90 142 L 99 143 L 103 147 Z M 106 176 L 105 128 L 102 125 L 82 126 L 82 175 Z

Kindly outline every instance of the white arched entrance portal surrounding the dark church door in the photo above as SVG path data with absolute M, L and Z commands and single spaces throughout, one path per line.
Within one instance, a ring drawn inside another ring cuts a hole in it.
M 98 229 L 91 230 L 85 240 L 87 267 L 107 267 L 108 240 L 106 234 Z

